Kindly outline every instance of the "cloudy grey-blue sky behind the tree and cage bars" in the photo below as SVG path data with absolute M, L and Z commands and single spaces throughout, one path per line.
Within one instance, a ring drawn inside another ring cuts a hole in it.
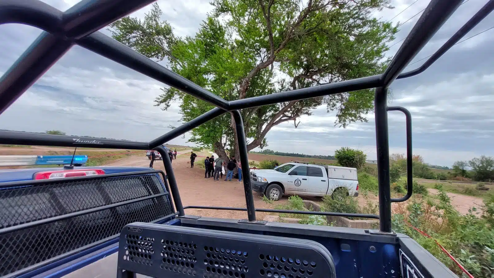
M 77 0 L 43 0 L 66 10 Z M 394 0 L 391 10 L 375 12 L 390 20 L 415 0 Z M 211 10 L 209 0 L 159 0 L 164 18 L 179 36 L 194 35 Z M 469 0 L 413 59 L 432 54 L 487 0 Z M 393 19 L 405 22 L 422 10 L 428 0 L 418 0 Z M 143 17 L 145 7 L 133 14 Z M 400 27 L 395 42 L 406 37 L 415 16 Z M 494 26 L 489 15 L 465 38 Z M 105 33 L 108 33 L 105 31 Z M 5 72 L 40 34 L 36 28 L 17 24 L 0 26 L 0 73 Z M 451 166 L 456 160 L 493 155 L 494 135 L 494 29 L 454 46 L 421 75 L 396 81 L 390 105 L 412 112 L 413 152 L 426 162 Z M 392 46 L 392 56 L 401 42 Z M 423 60 L 425 61 L 425 60 Z M 420 66 L 420 61 L 407 68 Z M 133 72 L 80 46 L 74 46 L 16 103 L 0 115 L 0 129 L 44 132 L 147 141 L 180 125 L 177 105 L 166 112 L 153 106 L 162 84 Z M 368 123 L 354 123 L 346 129 L 334 127 L 334 114 L 325 107 L 302 117 L 297 129 L 292 123 L 273 128 L 267 135 L 268 148 L 307 154 L 333 154 L 341 146 L 358 147 L 375 159 L 373 114 Z M 405 152 L 405 118 L 389 114 L 390 152 Z M 171 143 L 189 144 L 177 138 Z

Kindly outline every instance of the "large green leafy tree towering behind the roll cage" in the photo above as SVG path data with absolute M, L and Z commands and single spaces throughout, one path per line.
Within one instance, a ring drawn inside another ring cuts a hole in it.
M 110 26 L 113 37 L 226 100 L 279 93 L 380 73 L 386 43 L 397 31 L 371 17 L 390 0 L 213 0 L 213 11 L 194 37 L 180 38 L 161 20 L 158 4 L 144 20 L 125 17 Z M 182 120 L 212 105 L 164 88 L 156 105 L 180 100 Z M 269 130 L 326 105 L 335 125 L 367 121 L 373 91 L 340 93 L 242 110 L 247 149 L 267 145 Z M 238 155 L 231 116 L 224 114 L 192 131 L 191 141 Z

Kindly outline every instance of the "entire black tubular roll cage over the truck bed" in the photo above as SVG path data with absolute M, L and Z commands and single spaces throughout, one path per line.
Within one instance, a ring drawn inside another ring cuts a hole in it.
M 268 94 L 245 99 L 227 101 L 184 77 L 166 69 L 131 48 L 98 32 L 119 18 L 151 3 L 155 0 L 82 0 L 65 12 L 62 12 L 40 0 L 0 0 L 0 24 L 20 23 L 42 29 L 44 32 L 29 46 L 0 79 L 0 113 L 3 113 L 19 96 L 35 83 L 67 50 L 74 45 L 82 46 L 128 68 L 149 76 L 157 81 L 174 87 L 184 93 L 202 99 L 216 108 L 150 142 L 132 142 L 124 140 L 94 139 L 24 132 L 0 131 L 1 144 L 78 146 L 100 148 L 155 149 L 164 157 L 173 201 L 179 217 L 185 217 L 178 192 L 177 182 L 171 168 L 171 162 L 162 146 L 208 120 L 230 112 L 235 120 L 237 139 L 240 148 L 240 161 L 248 165 L 247 143 L 240 109 L 275 104 L 292 100 L 313 98 L 323 95 L 344 93 L 376 88 L 374 95 L 375 130 L 377 146 L 377 172 L 379 193 L 379 216 L 339 214 L 332 212 L 311 212 L 319 215 L 354 216 L 379 219 L 380 232 L 391 231 L 391 202 L 402 202 L 412 194 L 412 122 L 410 112 L 403 107 L 388 107 L 387 93 L 389 85 L 395 79 L 417 75 L 425 71 L 448 49 L 457 43 L 466 33 L 483 20 L 493 9 L 494 0 L 489 0 L 467 23 L 465 23 L 441 48 L 439 48 L 419 68 L 405 73 L 403 69 L 410 63 L 418 51 L 431 39 L 446 20 L 453 14 L 463 0 L 431 0 L 414 25 L 402 46 L 390 62 L 384 73 L 369 77 L 341 81 L 311 88 L 303 88 L 283 93 Z M 407 118 L 407 194 L 402 198 L 391 198 L 389 181 L 389 143 L 387 111 L 399 110 Z M 247 208 L 201 207 L 209 209 L 233 209 L 247 211 L 249 223 L 258 223 L 255 211 L 284 212 L 279 210 L 255 209 L 248 167 L 242 168 Z M 290 211 L 293 213 L 292 211 Z M 307 212 L 298 212 L 307 213 Z

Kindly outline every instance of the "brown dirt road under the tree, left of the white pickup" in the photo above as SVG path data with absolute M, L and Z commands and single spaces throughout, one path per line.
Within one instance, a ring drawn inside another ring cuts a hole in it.
M 190 153 L 190 150 L 180 151 L 181 153 Z M 212 178 L 204 178 L 204 170 L 199 167 L 190 168 L 188 156 L 178 155 L 177 159 L 172 161 L 173 171 L 177 180 L 182 204 L 200 205 L 200 206 L 223 206 L 223 207 L 246 207 L 244 195 L 244 185 L 237 179 L 231 182 L 220 180 L 214 182 Z M 108 166 L 137 166 L 149 167 L 149 159 L 146 156 L 134 156 L 114 160 L 107 164 Z M 196 164 L 204 163 L 204 158 L 197 157 Z M 157 160 L 153 165 L 154 169 L 165 170 L 163 161 Z M 223 178 L 225 178 L 223 176 Z M 285 200 L 286 201 L 286 200 Z M 278 201 L 281 204 L 284 201 Z M 256 208 L 274 208 L 274 205 L 266 204 L 261 197 L 254 194 L 254 205 Z M 186 214 L 201 215 L 207 217 L 246 219 L 247 212 L 244 211 L 225 211 L 225 210 L 208 210 L 208 209 L 188 209 Z M 257 212 L 258 220 L 262 220 L 267 213 Z

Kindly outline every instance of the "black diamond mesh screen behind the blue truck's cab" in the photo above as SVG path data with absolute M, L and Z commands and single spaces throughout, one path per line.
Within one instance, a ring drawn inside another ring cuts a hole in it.
M 0 228 L 165 192 L 155 174 L 0 189 Z M 0 276 L 114 236 L 132 222 L 172 213 L 168 196 L 0 235 Z

